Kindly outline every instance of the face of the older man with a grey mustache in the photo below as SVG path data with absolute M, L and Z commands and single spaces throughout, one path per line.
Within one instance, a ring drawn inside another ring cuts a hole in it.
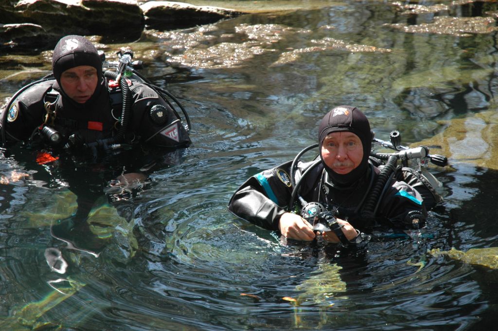
M 360 137 L 352 132 L 333 132 L 323 140 L 322 158 L 325 164 L 338 174 L 347 174 L 363 159 Z

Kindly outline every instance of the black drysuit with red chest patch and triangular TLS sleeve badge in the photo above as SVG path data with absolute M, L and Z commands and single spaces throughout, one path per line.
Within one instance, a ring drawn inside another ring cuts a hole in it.
M 184 147 L 190 144 L 188 133 L 180 118 L 167 102 L 152 88 L 136 80 L 127 80 L 131 91 L 131 114 L 125 143 L 141 142 L 167 148 Z M 72 134 L 78 134 L 82 143 L 113 137 L 119 129 L 122 116 L 122 94 L 117 86 L 108 88 L 102 80 L 92 99 L 78 104 L 60 90 L 55 80 L 36 83 L 9 103 L 8 115 L 1 123 L 7 143 L 27 141 L 45 122 L 45 102 L 55 103 L 55 119 L 48 125 L 63 135 L 64 146 Z M 154 116 L 153 107 L 161 105 L 161 118 Z

